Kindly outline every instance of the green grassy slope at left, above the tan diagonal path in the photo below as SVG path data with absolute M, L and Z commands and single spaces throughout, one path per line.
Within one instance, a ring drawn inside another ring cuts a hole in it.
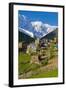
M 18 71 L 19 75 L 26 73 L 30 70 L 35 70 L 39 67 L 37 64 L 30 64 L 31 57 L 28 54 L 19 53 L 19 65 Z

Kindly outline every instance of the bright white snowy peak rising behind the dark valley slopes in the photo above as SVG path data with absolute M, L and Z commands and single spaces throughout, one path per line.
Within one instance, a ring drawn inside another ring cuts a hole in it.
M 44 24 L 41 21 L 34 21 L 31 23 L 35 30 L 34 34 L 40 38 L 47 35 L 48 33 L 52 32 L 53 30 L 57 28 L 57 26 L 51 26 L 49 24 Z

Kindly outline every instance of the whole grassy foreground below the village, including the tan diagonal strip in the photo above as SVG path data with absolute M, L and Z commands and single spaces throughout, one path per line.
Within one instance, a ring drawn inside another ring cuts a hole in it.
M 49 60 L 48 64 L 30 63 L 31 55 L 20 52 L 18 61 L 19 79 L 49 78 L 58 76 L 57 56 Z

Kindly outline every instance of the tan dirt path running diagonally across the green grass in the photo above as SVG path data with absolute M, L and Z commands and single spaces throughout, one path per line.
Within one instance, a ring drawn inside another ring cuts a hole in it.
M 58 57 L 55 57 L 51 60 L 49 60 L 48 64 L 46 66 L 42 66 L 34 71 L 29 71 L 23 75 L 19 76 L 19 79 L 21 78 L 29 78 L 32 75 L 36 75 L 36 74 L 40 74 L 42 72 L 47 72 L 47 71 L 51 71 L 58 68 Z

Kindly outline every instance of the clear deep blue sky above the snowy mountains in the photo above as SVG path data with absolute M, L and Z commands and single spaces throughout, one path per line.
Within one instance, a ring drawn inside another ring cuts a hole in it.
M 42 21 L 45 24 L 58 26 L 58 13 L 57 12 L 41 12 L 41 11 L 22 11 L 19 10 L 18 14 L 25 15 L 30 21 Z

